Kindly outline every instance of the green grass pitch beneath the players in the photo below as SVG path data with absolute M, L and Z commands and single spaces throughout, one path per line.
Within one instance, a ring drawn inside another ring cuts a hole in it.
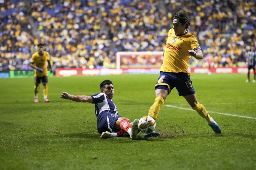
M 0 169 L 255 169 L 256 83 L 245 83 L 246 75 L 191 76 L 198 101 L 222 134 L 189 110 L 175 88 L 156 120 L 161 135 L 148 140 L 100 139 L 94 105 L 59 98 L 63 91 L 99 93 L 100 82 L 110 79 L 119 114 L 133 121 L 147 115 L 157 78 L 49 77 L 50 103 L 42 102 L 42 87 L 39 103 L 33 102 L 33 78 L 0 79 Z

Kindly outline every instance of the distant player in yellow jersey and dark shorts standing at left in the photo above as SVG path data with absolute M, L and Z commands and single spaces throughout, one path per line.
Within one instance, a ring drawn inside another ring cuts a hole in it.
M 50 72 L 52 73 L 52 66 L 50 63 L 50 55 L 48 52 L 44 51 L 45 45 L 39 44 L 38 51 L 32 55 L 30 66 L 35 69 L 35 86 L 34 86 L 34 102 L 38 103 L 38 93 L 40 88 L 40 83 L 42 81 L 43 85 L 43 102 L 50 102 L 47 98 L 48 95 L 48 70 L 47 63 L 50 68 Z

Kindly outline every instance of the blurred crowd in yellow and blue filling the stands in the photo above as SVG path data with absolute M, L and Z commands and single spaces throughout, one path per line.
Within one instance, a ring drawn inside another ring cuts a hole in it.
M 0 71 L 28 70 L 39 43 L 57 67 L 115 67 L 118 51 L 164 51 L 186 11 L 204 52 L 190 66 L 245 66 L 256 46 L 255 0 L 0 0 Z M 207 57 L 206 57 L 207 56 Z

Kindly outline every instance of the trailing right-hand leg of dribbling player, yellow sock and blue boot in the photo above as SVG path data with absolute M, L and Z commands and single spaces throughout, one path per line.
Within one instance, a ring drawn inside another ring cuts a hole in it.
M 195 94 L 192 95 L 186 95 L 183 96 L 189 105 L 192 107 L 193 110 L 197 111 L 197 113 L 202 116 L 209 126 L 213 129 L 215 133 L 221 133 L 221 128 L 220 126 L 213 120 L 213 118 L 208 114 L 206 111 L 204 105 L 200 104 L 197 102 L 197 98 Z

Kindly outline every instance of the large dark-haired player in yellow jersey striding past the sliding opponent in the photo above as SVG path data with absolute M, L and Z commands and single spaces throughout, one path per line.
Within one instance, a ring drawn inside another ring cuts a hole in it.
M 189 16 L 184 11 L 179 11 L 172 20 L 173 28 L 168 33 L 160 76 L 155 85 L 155 103 L 150 107 L 148 115 L 156 119 L 167 95 L 176 87 L 179 95 L 182 95 L 192 109 L 206 119 L 214 132 L 221 133 L 220 126 L 210 117 L 204 105 L 198 103 L 190 80 L 188 61 L 191 56 L 198 60 L 203 59 L 203 53 L 197 38 L 187 31 L 190 25 Z

